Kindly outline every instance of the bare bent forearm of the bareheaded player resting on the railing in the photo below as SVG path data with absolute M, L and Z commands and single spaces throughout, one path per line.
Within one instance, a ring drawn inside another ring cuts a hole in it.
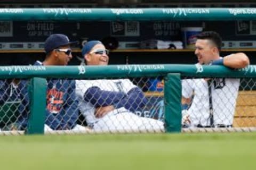
M 235 53 L 223 57 L 223 65 L 233 69 L 242 69 L 249 64 L 250 60 L 244 53 Z

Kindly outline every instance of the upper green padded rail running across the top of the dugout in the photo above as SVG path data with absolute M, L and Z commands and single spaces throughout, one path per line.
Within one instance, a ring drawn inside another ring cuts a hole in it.
M 256 8 L 0 8 L 0 20 L 253 20 Z

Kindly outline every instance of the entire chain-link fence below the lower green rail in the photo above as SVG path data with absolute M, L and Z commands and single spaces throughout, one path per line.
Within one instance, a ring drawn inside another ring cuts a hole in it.
M 256 127 L 255 79 L 183 78 L 182 131 Z M 28 127 L 28 80 L 0 81 L 2 134 Z M 47 80 L 45 133 L 164 132 L 163 77 Z

